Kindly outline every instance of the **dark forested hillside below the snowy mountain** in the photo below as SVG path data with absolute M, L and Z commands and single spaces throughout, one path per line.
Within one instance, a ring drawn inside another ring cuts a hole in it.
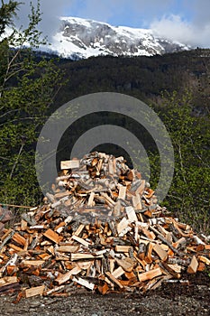
M 196 49 L 154 57 L 96 57 L 88 60 L 60 60 L 68 84 L 58 103 L 87 93 L 114 91 L 161 105 L 163 91 L 178 95 L 186 88 L 195 98 L 197 113 L 207 113 L 210 104 L 210 50 Z

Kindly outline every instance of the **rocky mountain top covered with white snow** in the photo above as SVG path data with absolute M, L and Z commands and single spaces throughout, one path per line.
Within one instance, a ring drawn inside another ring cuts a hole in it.
M 49 52 L 72 59 L 99 55 L 152 56 L 187 49 L 187 45 L 169 42 L 153 30 L 116 27 L 78 17 L 61 17 L 59 31 L 48 46 Z

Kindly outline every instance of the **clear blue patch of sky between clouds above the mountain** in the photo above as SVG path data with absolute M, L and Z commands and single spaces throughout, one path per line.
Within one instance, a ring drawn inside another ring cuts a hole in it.
M 150 27 L 151 23 L 171 14 L 192 21 L 196 14 L 190 0 L 71 0 L 64 14 L 95 19 L 114 25 Z

